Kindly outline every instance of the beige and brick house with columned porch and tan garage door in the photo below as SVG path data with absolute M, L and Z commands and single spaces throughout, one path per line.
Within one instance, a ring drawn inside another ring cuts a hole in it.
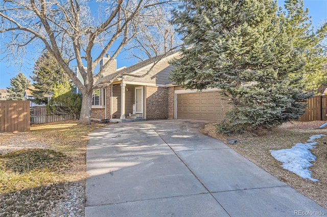
M 169 62 L 178 57 L 178 52 L 166 56 L 145 77 L 127 75 L 112 81 L 108 75 L 116 72 L 116 69 L 110 66 L 106 76 L 100 80 L 101 84 L 108 86 L 94 92 L 91 119 L 110 119 L 114 122 L 174 118 L 223 120 L 231 105 L 219 89 L 199 92 L 172 84 L 169 77 L 174 67 Z M 102 64 L 107 60 L 108 57 L 105 57 Z M 149 59 L 120 69 L 120 72 L 142 75 L 152 65 L 153 59 Z

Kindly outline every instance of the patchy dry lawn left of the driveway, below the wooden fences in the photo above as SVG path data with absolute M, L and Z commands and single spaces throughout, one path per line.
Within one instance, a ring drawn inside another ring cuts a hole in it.
M 0 216 L 45 216 L 71 184 L 84 183 L 88 133 L 105 125 L 69 120 L 2 133 Z

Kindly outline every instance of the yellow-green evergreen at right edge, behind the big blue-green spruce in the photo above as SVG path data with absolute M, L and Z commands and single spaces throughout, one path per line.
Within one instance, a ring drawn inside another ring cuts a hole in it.
M 287 34 L 293 38 L 294 50 L 306 61 L 302 84 L 309 91 L 327 85 L 327 56 L 321 46 L 327 36 L 327 22 L 316 31 L 312 26 L 309 9 L 303 9 L 302 0 L 286 0 L 285 11 L 279 17 Z

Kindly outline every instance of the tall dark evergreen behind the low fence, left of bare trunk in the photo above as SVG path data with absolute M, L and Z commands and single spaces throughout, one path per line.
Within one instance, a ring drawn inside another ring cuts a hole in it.
M 55 85 L 69 80 L 68 75 L 49 51 L 35 62 L 33 74 L 31 78 L 34 81 L 35 90 L 32 92 L 34 97 L 32 101 L 37 104 L 47 104 L 48 99 L 44 96 L 54 92 Z

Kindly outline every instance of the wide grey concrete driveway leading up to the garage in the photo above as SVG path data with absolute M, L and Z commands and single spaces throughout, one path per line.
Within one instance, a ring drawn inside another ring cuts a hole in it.
M 327 214 L 219 140 L 199 132 L 205 123 L 157 120 L 92 132 L 86 154 L 85 216 Z

